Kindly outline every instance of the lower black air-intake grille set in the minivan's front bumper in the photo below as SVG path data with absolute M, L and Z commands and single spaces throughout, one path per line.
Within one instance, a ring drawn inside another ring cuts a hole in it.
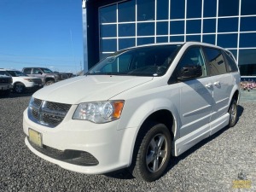
M 55 148 L 50 148 L 46 145 L 43 145 L 43 148 L 40 148 L 30 142 L 29 139 L 28 142 L 32 145 L 33 148 L 38 150 L 38 152 L 40 152 L 41 154 L 45 154 L 55 160 L 61 160 L 77 166 L 96 166 L 99 164 L 99 161 L 96 160 L 96 158 L 92 154 L 86 151 L 72 149 L 61 151 Z

